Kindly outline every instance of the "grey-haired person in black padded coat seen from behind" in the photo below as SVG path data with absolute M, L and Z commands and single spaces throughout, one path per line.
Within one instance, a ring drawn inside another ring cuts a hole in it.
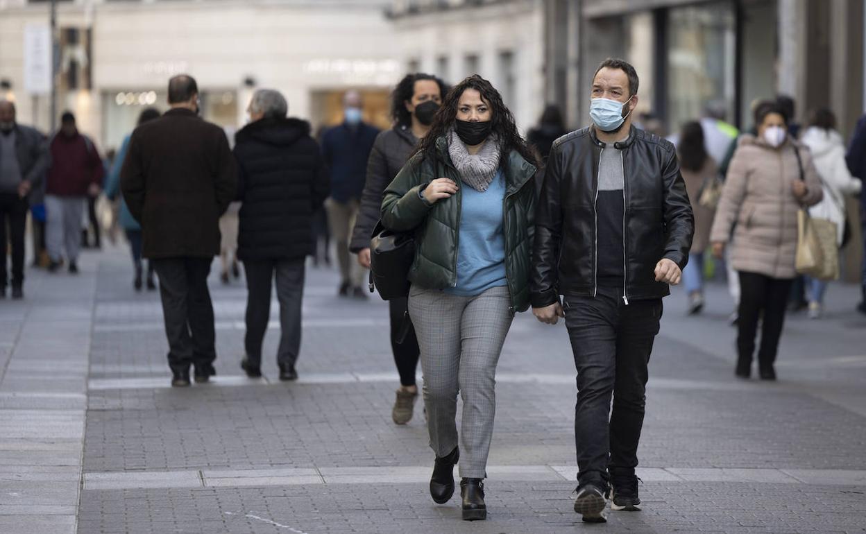
M 242 201 L 237 257 L 247 273 L 246 356 L 250 377 L 262 376 L 262 341 L 270 318 L 271 280 L 280 301 L 281 380 L 298 377 L 304 260 L 313 253 L 313 214 L 328 194 L 329 181 L 310 125 L 287 119 L 281 93 L 259 89 L 249 103 L 253 122 L 236 135 L 238 200 Z

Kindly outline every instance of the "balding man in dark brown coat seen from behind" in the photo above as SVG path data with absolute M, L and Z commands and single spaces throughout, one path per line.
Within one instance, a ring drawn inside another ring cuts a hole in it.
M 219 254 L 219 217 L 236 196 L 235 159 L 223 128 L 198 118 L 190 76 L 169 81 L 171 109 L 132 132 L 120 190 L 141 224 L 142 254 L 159 277 L 172 386 L 216 374 L 208 273 Z

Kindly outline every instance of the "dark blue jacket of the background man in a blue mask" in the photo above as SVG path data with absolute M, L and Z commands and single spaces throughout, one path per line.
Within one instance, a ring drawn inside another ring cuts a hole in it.
M 367 177 L 367 159 L 378 132 L 363 122 L 355 127 L 344 122 L 322 136 L 322 154 L 331 170 L 331 198 L 335 201 L 360 199 Z

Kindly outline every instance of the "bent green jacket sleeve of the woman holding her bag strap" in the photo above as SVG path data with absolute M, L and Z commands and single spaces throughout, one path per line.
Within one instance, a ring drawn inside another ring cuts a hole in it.
M 417 228 L 430 213 L 433 205 L 425 203 L 419 194 L 427 186 L 427 183 L 421 183 L 422 161 L 422 156 L 416 154 L 385 188 L 382 197 L 382 224 L 385 228 L 408 232 Z

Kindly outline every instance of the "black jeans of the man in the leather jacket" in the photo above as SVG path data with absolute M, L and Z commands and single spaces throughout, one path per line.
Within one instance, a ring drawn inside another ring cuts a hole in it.
M 647 368 L 662 299 L 633 300 L 626 306 L 622 294 L 621 289 L 599 287 L 595 298 L 565 298 L 565 326 L 578 370 L 574 439 L 581 484 L 606 482 L 609 469 L 634 473 L 637 466 Z

